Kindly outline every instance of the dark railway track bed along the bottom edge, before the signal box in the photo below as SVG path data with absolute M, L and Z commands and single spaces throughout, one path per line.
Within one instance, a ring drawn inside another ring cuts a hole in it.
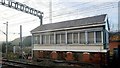
M 58 60 L 41 60 L 38 62 L 28 63 L 4 59 L 2 64 L 2 68 L 100 68 L 95 64 L 90 63 Z

